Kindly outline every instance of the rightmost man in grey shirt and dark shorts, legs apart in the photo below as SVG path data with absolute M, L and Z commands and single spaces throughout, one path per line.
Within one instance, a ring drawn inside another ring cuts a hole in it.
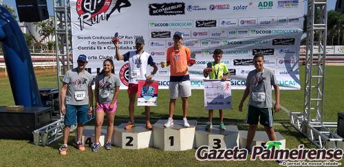
M 255 137 L 257 124 L 260 116 L 260 124 L 264 126 L 269 140 L 277 140 L 272 124 L 272 89 L 275 89 L 275 112 L 279 111 L 279 86 L 275 74 L 264 68 L 264 56 L 257 54 L 253 57 L 255 70 L 250 71 L 246 78 L 246 89 L 239 104 L 239 111 L 242 111 L 244 101 L 248 96 L 248 115 L 247 123 L 249 124 L 247 133 L 246 149 L 250 152 L 252 140 Z

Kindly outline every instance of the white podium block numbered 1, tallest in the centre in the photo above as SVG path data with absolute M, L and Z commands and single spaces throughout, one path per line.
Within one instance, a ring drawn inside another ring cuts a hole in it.
M 188 120 L 190 127 L 185 128 L 182 120 L 173 120 L 173 126 L 164 127 L 167 120 L 153 124 L 153 146 L 163 151 L 185 151 L 193 148 L 195 120 Z

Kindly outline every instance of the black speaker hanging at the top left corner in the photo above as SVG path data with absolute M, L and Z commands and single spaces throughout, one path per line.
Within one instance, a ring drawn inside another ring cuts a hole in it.
M 19 21 L 36 22 L 49 19 L 46 0 L 16 0 Z

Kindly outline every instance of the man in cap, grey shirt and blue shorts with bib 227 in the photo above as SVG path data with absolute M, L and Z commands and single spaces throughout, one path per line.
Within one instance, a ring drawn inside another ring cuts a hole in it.
M 87 56 L 78 56 L 78 67 L 67 71 L 63 77 L 61 88 L 61 113 L 65 115 L 63 128 L 63 145 L 59 148 L 61 155 L 67 154 L 67 142 L 70 126 L 76 126 L 76 146 L 80 151 L 85 151 L 81 142 L 83 125 L 88 121 L 88 116 L 93 112 L 93 77 L 85 70 Z

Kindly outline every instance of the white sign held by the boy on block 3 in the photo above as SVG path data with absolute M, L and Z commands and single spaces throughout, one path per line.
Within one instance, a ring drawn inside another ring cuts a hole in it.
M 204 109 L 232 109 L 230 81 L 204 80 Z

